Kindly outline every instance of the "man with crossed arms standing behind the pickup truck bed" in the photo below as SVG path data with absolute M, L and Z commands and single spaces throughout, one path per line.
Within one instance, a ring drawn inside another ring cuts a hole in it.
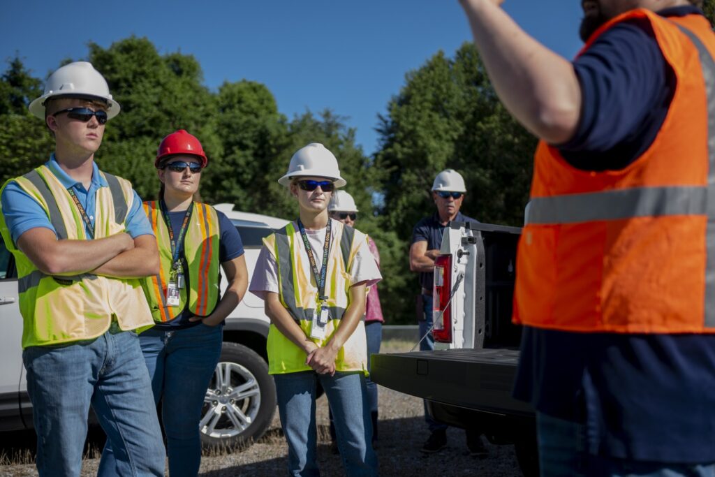
M 462 175 L 454 169 L 445 169 L 435 177 L 432 185 L 432 199 L 437 206 L 437 212 L 425 217 L 415 225 L 410 245 L 410 270 L 420 274 L 422 291 L 418 297 L 418 321 L 420 325 L 420 350 L 435 349 L 432 336 L 432 290 L 435 270 L 435 259 L 440 255 L 442 235 L 445 227 L 452 221 L 477 222 L 459 211 L 464 201 L 467 188 Z M 430 429 L 430 437 L 421 451 L 435 453 L 447 445 L 447 428 L 438 423 L 427 413 L 425 403 L 425 421 Z M 480 438 L 481 433 L 475 429 L 467 430 L 467 447 L 474 456 L 487 455 L 486 448 Z

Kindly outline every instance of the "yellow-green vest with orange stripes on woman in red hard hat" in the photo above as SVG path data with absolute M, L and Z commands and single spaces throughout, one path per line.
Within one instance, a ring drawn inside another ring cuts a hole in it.
M 159 245 L 159 275 L 142 280 L 144 293 L 157 323 L 174 320 L 187 309 L 197 316 L 210 315 L 219 298 L 220 257 L 219 217 L 216 210 L 207 204 L 194 202 L 194 210 L 184 237 L 183 262 L 186 286 L 179 290 L 179 306 L 167 306 L 167 283 L 174 260 L 172 257 L 169 227 L 164 220 L 158 201 L 144 202 L 144 212 L 149 217 Z M 188 290 L 188 297 L 187 297 Z

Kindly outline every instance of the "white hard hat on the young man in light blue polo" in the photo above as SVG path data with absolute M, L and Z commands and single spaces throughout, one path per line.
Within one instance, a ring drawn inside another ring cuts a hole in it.
M 94 97 L 107 102 L 107 117 L 119 114 L 119 103 L 109 94 L 107 80 L 88 62 L 74 62 L 58 68 L 45 84 L 44 94 L 30 103 L 32 114 L 45 117 L 44 103 L 51 97 Z

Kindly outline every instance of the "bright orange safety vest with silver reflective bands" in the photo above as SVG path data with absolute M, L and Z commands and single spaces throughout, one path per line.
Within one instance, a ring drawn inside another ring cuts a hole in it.
M 715 34 L 701 15 L 646 19 L 677 85 L 625 169 L 572 167 L 538 145 L 517 255 L 514 323 L 574 332 L 715 333 Z

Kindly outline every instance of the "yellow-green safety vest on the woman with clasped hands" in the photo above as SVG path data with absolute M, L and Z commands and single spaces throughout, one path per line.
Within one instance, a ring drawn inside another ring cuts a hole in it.
M 332 219 L 330 219 L 332 220 Z M 340 325 L 340 319 L 350 305 L 350 270 L 360 245 L 367 243 L 368 236 L 342 222 L 332 220 L 332 242 L 327 262 L 325 295 L 330 319 L 325 339 L 310 338 L 318 346 L 327 343 Z M 307 337 L 310 337 L 313 310 L 317 310 L 318 290 L 310 270 L 305 244 L 295 222 L 291 222 L 274 234 L 265 237 L 263 243 L 278 265 L 278 288 L 280 303 L 286 308 Z M 336 246 L 337 245 L 337 246 Z M 372 255 L 370 255 L 372 257 Z M 307 265 L 307 266 L 305 266 Z M 367 290 L 366 290 L 367 292 Z M 270 325 L 267 341 L 268 373 L 285 374 L 311 370 L 305 364 L 305 351 L 283 333 Z M 365 340 L 365 315 L 358 328 L 345 341 L 335 358 L 337 371 L 362 371 L 368 374 L 368 353 Z

